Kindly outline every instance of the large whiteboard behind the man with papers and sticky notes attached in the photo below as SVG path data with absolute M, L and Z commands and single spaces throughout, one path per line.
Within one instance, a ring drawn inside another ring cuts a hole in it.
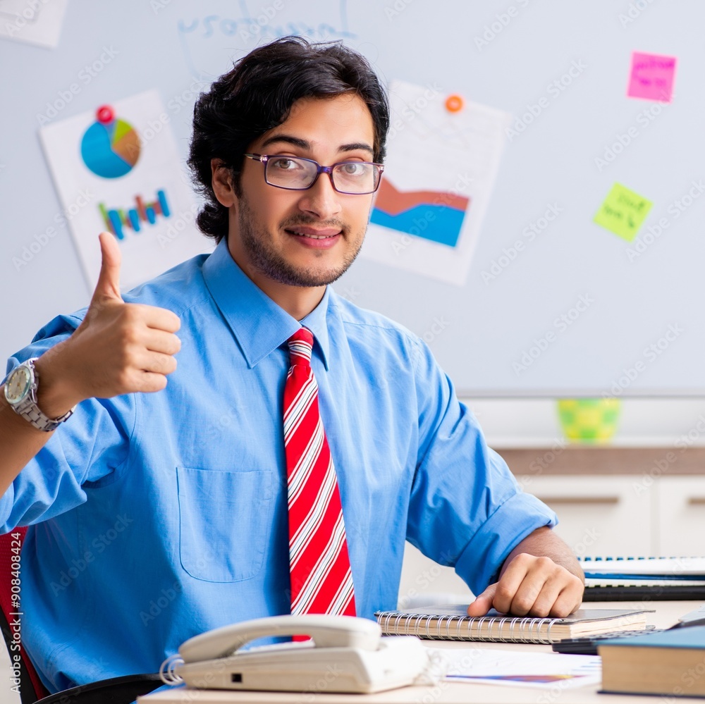
M 61 92 L 51 119 L 157 89 L 185 160 L 197 93 L 295 32 L 523 124 L 465 283 L 360 257 L 341 295 L 422 335 L 462 395 L 703 395 L 704 25 L 697 0 L 69 0 L 56 49 L 0 39 L 1 352 L 90 296 L 65 226 L 13 265 L 61 211 L 37 137 Z M 677 57 L 670 103 L 626 96 L 633 51 Z M 653 203 L 634 242 L 593 222 L 615 183 Z

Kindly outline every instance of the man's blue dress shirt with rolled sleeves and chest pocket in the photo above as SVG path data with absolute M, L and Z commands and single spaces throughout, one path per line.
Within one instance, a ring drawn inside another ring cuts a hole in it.
M 286 340 L 312 367 L 358 615 L 396 607 L 404 541 L 479 593 L 551 510 L 522 493 L 422 340 L 331 288 L 301 322 L 225 242 L 125 295 L 181 320 L 166 390 L 78 405 L 0 498 L 29 525 L 23 643 L 51 691 L 156 672 L 186 638 L 289 611 Z M 59 316 L 8 372 L 78 327 Z

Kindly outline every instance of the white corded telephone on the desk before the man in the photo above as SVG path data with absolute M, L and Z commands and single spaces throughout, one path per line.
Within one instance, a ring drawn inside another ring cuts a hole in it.
M 310 636 L 240 651 L 266 636 Z M 166 684 L 208 689 L 372 693 L 434 679 L 429 649 L 415 636 L 381 636 L 352 616 L 274 616 L 207 631 L 161 666 Z M 424 679 L 425 676 L 425 679 Z M 430 679 L 429 679 L 430 678 Z

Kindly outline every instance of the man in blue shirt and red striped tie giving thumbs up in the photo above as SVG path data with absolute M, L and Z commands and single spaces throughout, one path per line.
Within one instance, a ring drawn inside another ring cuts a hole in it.
M 293 521 L 315 433 L 327 474 L 313 491 L 339 536 L 331 611 L 395 607 L 405 539 L 479 593 L 471 615 L 580 605 L 553 512 L 517 488 L 428 348 L 328 286 L 362 245 L 387 128 L 350 49 L 289 37 L 252 51 L 195 107 L 189 163 L 215 252 L 123 298 L 103 233 L 90 306 L 11 359 L 0 526 L 30 525 L 23 640 L 52 690 L 153 671 L 216 626 L 315 612 L 328 575 L 307 583 L 319 563 L 301 569 Z M 30 358 L 31 421 L 17 371 Z M 322 419 L 309 438 L 302 389 Z

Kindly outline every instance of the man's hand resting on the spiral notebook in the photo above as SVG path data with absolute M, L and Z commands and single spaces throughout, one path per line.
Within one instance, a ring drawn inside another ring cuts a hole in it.
M 484 616 L 495 608 L 517 616 L 563 618 L 580 607 L 583 591 L 582 570 L 568 546 L 551 529 L 539 528 L 510 552 L 499 581 L 478 595 L 467 613 Z

